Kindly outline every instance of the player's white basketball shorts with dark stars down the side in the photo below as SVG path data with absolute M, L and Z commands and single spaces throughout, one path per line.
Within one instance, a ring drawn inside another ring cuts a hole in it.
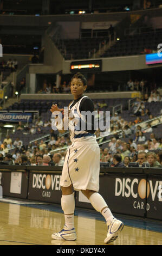
M 74 190 L 99 191 L 100 148 L 96 141 L 74 142 L 68 149 L 60 185 Z

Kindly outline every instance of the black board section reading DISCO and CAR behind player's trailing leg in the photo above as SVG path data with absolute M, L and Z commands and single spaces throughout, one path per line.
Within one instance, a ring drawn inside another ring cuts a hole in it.
M 80 192 L 79 192 L 80 193 Z M 93 209 L 90 202 L 77 193 L 76 206 Z M 100 176 L 99 193 L 114 213 L 145 216 L 146 175 L 105 174 Z

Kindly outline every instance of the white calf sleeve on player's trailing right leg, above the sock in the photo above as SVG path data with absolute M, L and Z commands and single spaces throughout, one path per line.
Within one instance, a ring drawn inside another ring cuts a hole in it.
M 89 201 L 90 201 L 90 203 L 92 204 L 93 208 L 96 211 L 101 212 L 101 210 L 103 208 L 107 207 L 107 204 L 106 204 L 105 200 L 103 199 L 103 197 L 98 192 L 93 193 L 89 197 Z

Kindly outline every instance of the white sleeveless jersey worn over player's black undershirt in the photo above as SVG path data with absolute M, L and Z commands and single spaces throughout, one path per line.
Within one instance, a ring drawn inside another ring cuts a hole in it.
M 85 117 L 81 114 L 79 107 L 82 99 L 84 99 L 85 97 L 88 97 L 88 96 L 83 96 L 79 101 L 75 103 L 75 105 L 72 108 L 70 108 L 70 106 L 72 106 L 73 101 L 69 105 L 69 109 L 70 111 L 72 111 L 73 116 L 75 117 L 75 119 L 69 120 L 69 131 L 70 131 L 71 142 L 96 140 L 96 136 L 93 133 L 82 130 L 82 127 L 80 127 L 81 120 L 83 121 L 82 123 L 84 123 Z

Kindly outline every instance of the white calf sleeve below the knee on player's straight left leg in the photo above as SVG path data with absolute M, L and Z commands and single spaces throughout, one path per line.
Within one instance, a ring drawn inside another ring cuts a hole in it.
M 61 197 L 61 208 L 64 214 L 73 214 L 75 209 L 74 193 Z

